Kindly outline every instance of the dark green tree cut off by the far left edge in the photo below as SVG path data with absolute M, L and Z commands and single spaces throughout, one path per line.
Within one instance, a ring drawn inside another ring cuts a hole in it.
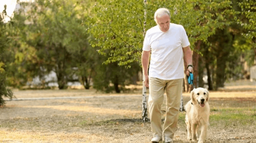
M 5 56 L 5 50 L 8 47 L 10 39 L 7 35 L 7 25 L 8 23 L 4 23 L 4 18 L 6 17 L 6 5 L 4 6 L 4 10 L 0 13 L 0 106 L 5 104 L 4 97 L 8 97 L 12 99 L 13 93 L 10 89 L 7 89 L 7 81 L 6 81 L 6 73 L 5 73 L 5 64 L 3 63 L 3 57 Z

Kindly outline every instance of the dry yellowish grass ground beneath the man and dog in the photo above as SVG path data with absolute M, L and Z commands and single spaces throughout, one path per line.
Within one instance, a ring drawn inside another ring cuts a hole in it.
M 50 97 L 52 94 L 85 96 L 82 90 L 67 90 L 66 93 L 33 90 L 20 93 L 19 98 L 25 95 Z M 255 143 L 255 98 L 223 98 L 228 94 L 212 93 L 214 97 L 209 101 L 211 115 L 206 143 Z M 255 92 L 250 95 L 253 94 Z M 184 94 L 184 104 L 189 98 L 189 95 Z M 141 102 L 141 96 L 118 95 L 108 98 L 9 101 L 0 108 L 0 142 L 149 143 L 151 126 L 150 122 L 141 122 Z M 163 103 L 164 110 L 165 101 Z M 174 136 L 177 143 L 190 143 L 186 139 L 185 115 L 185 112 L 179 113 Z

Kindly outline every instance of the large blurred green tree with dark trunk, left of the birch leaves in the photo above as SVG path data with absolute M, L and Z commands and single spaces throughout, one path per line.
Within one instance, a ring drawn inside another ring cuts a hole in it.
M 92 56 L 88 52 L 90 46 L 87 27 L 83 25 L 86 19 L 81 15 L 80 3 L 37 0 L 35 3 L 22 3 L 22 5 L 29 5 L 30 9 L 27 9 L 25 14 L 18 13 L 20 17 L 16 21 L 27 21 L 25 26 L 20 27 L 25 29 L 20 36 L 26 44 L 36 50 L 37 62 L 34 69 L 31 69 L 37 71 L 34 76 L 39 75 L 43 78 L 54 71 L 59 89 L 64 89 L 67 81 L 74 74 L 72 69 L 78 67 L 79 70 L 75 74 L 82 77 L 83 84 L 88 88 L 86 83 L 90 70 L 88 62 L 91 61 Z

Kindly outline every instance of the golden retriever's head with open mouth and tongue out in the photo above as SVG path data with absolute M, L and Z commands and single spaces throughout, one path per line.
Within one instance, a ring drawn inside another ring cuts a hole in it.
M 190 92 L 190 98 L 194 105 L 199 104 L 201 107 L 204 107 L 205 102 L 209 100 L 209 91 L 205 88 L 194 88 Z

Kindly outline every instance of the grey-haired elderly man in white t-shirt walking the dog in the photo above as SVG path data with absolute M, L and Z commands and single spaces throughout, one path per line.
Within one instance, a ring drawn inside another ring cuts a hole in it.
M 192 51 L 188 36 L 182 25 L 170 23 L 170 12 L 158 9 L 154 14 L 156 26 L 147 30 L 143 42 L 142 68 L 144 84 L 149 87 L 149 114 L 153 133 L 151 142 L 173 142 L 177 126 L 183 84 L 183 57 L 193 72 Z M 148 72 L 149 56 L 150 66 Z M 161 125 L 161 105 L 166 92 L 166 116 Z

